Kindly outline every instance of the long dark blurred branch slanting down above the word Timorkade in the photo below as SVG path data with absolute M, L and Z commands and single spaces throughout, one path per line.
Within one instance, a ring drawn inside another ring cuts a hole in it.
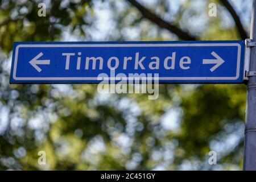
M 174 24 L 170 24 L 160 18 L 158 15 L 152 13 L 150 10 L 146 9 L 146 7 L 142 6 L 136 0 L 127 0 L 131 5 L 136 7 L 142 14 L 142 16 L 151 22 L 157 24 L 161 28 L 165 28 L 166 30 L 176 34 L 182 40 L 197 40 L 195 36 L 190 35 L 188 32 L 181 30 L 179 27 Z

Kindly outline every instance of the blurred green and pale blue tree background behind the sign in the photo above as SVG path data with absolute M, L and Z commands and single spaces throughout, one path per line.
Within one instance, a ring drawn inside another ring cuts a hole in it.
M 97 85 L 10 85 L 9 77 L 14 41 L 244 40 L 251 5 L 0 0 L 0 169 L 242 169 L 245 85 L 160 85 L 158 100 L 148 100 L 99 94 Z

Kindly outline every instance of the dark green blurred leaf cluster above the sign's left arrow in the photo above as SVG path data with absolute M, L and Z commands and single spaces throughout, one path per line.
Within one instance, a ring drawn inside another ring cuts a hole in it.
M 46 16 L 38 16 L 39 1 L 0 1 L 0 46 L 9 52 L 14 41 L 59 40 L 65 27 L 85 35 L 83 26 L 88 26 L 84 16 L 91 16 L 90 1 L 70 1 L 61 5 L 60 0 L 50 1 Z

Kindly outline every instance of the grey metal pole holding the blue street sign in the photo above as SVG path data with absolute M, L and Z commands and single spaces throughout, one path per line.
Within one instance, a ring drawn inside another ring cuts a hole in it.
M 251 11 L 250 39 L 256 42 L 256 0 Z M 250 72 L 256 71 L 256 47 L 250 48 Z M 256 76 L 250 76 L 247 83 L 245 148 L 243 170 L 256 170 Z

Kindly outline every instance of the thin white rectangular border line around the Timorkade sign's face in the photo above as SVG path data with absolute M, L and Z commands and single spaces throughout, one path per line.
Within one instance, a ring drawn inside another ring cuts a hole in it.
M 18 53 L 20 47 L 205 47 L 205 46 L 237 46 L 237 75 L 235 77 L 159 77 L 159 80 L 237 80 L 240 76 L 241 62 L 241 45 L 238 43 L 192 43 L 192 44 L 20 44 L 15 49 L 15 59 L 13 68 L 14 80 L 98 80 L 98 77 L 16 77 L 16 69 L 18 62 Z M 122 79 L 122 78 L 119 78 Z M 154 77 L 140 77 L 140 79 L 150 80 Z M 109 78 L 109 80 L 118 80 L 117 78 Z M 129 80 L 134 80 L 133 77 Z

